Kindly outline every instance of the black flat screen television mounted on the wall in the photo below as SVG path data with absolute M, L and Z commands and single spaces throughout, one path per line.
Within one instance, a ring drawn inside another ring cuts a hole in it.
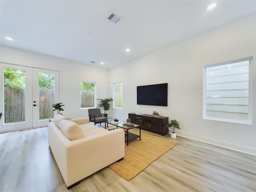
M 137 104 L 167 106 L 168 84 L 137 86 Z

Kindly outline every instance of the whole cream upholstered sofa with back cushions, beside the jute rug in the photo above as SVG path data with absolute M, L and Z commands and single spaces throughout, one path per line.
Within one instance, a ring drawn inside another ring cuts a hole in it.
M 89 118 L 56 114 L 48 124 L 48 141 L 68 189 L 124 158 L 124 130 L 99 128 Z

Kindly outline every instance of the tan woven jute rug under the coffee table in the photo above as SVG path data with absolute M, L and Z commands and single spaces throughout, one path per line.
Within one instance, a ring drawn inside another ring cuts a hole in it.
M 140 133 L 137 129 L 129 130 L 129 132 L 138 135 Z M 175 145 L 176 142 L 141 132 L 141 140 L 139 138 L 131 140 L 129 146 L 125 142 L 124 159 L 109 167 L 129 181 Z

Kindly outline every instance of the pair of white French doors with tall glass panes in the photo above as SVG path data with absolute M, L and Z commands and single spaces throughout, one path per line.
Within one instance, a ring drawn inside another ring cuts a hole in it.
M 47 126 L 59 101 L 59 72 L 1 63 L 0 132 Z

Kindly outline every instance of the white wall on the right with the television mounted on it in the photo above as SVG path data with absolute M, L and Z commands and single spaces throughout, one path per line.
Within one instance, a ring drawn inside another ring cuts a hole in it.
M 114 82 L 122 81 L 124 101 L 122 110 L 110 114 L 125 120 L 130 112 L 156 110 L 180 122 L 177 135 L 256 155 L 255 34 L 254 14 L 110 69 L 109 92 Z M 204 120 L 203 66 L 248 56 L 254 58 L 253 124 Z M 137 105 L 136 86 L 158 83 L 168 83 L 168 106 Z

